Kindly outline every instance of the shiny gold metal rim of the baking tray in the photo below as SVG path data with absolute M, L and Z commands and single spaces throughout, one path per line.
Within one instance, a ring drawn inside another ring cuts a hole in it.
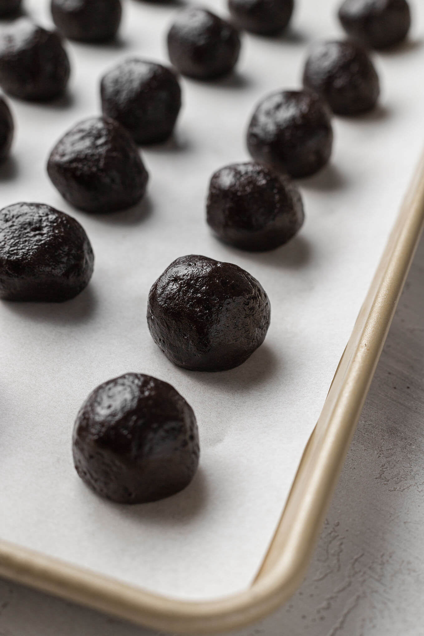
M 48 556 L 0 542 L 0 574 L 158 630 L 212 633 L 252 622 L 284 603 L 304 570 L 343 465 L 424 223 L 424 157 L 304 451 L 256 580 L 221 600 L 160 597 Z

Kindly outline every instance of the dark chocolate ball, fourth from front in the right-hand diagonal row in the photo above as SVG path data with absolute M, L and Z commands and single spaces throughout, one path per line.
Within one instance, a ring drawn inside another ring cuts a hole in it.
M 259 162 L 292 177 L 315 174 L 332 148 L 331 113 L 310 90 L 283 90 L 263 99 L 247 130 L 247 148 Z

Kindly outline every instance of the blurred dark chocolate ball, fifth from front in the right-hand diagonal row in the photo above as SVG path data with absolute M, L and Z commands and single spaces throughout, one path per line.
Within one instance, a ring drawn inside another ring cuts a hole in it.
M 357 115 L 371 111 L 380 95 L 373 62 L 355 42 L 320 42 L 306 60 L 303 85 L 319 93 L 333 113 Z

